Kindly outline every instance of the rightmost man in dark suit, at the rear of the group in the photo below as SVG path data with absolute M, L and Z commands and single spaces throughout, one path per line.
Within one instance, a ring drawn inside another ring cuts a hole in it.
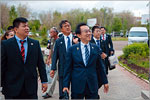
M 103 62 L 106 67 L 106 74 L 108 74 L 108 68 L 110 67 L 108 57 L 114 54 L 113 43 L 111 40 L 111 36 L 106 34 L 106 28 L 101 27 L 100 30 L 101 30 L 101 37 L 100 37 L 101 49 L 102 52 L 104 52 L 107 55 L 107 57 L 103 60 Z

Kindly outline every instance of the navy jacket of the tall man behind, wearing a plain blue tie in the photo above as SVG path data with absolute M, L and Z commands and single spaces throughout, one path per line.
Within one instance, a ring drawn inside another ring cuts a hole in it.
M 72 44 L 74 44 L 73 41 Z M 66 60 L 66 45 L 64 36 L 62 36 L 58 38 L 55 42 L 51 68 L 51 70 L 57 70 L 57 62 L 58 62 L 59 77 L 63 77 L 65 60 Z

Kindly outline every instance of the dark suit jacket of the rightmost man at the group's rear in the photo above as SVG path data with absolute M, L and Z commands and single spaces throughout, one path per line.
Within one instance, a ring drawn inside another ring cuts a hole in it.
M 100 45 L 103 52 L 110 56 L 110 51 L 114 51 L 111 36 L 106 34 L 106 40 L 102 40 L 100 37 Z

